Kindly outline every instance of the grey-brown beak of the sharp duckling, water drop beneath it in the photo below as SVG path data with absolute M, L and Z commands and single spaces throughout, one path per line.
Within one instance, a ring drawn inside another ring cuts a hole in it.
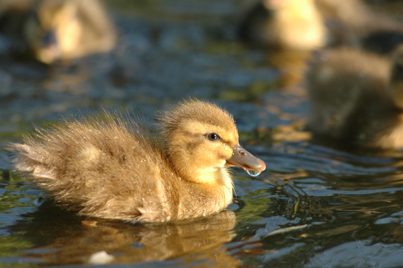
M 245 170 L 264 171 L 266 169 L 266 164 L 264 164 L 263 160 L 253 156 L 242 146 L 235 146 L 232 157 L 227 160 L 227 164 L 238 166 Z

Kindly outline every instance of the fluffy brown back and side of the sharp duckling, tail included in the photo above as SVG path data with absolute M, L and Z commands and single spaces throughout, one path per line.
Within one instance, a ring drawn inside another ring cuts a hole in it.
M 137 222 L 177 217 L 181 188 L 152 135 L 112 115 L 38 130 L 12 144 L 16 168 L 81 215 Z M 175 189 L 175 192 L 172 190 Z

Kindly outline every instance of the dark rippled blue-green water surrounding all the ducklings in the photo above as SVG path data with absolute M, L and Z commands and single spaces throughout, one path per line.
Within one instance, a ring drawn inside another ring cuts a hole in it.
M 229 110 L 267 169 L 255 179 L 236 170 L 234 204 L 209 218 L 93 226 L 44 201 L 0 149 L 0 266 L 90 266 L 102 250 L 113 267 L 403 266 L 403 154 L 311 139 L 306 55 L 237 42 L 249 3 L 111 0 L 120 28 L 111 55 L 52 69 L 2 58 L 0 147 L 61 116 L 106 108 L 152 118 L 190 96 Z

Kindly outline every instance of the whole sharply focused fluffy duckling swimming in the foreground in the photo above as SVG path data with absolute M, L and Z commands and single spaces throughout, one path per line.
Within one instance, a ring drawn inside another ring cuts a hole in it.
M 230 166 L 265 169 L 239 145 L 233 117 L 209 102 L 183 101 L 161 113 L 161 145 L 133 120 L 105 117 L 38 129 L 25 144 L 11 144 L 15 168 L 79 215 L 131 223 L 219 212 L 232 201 Z

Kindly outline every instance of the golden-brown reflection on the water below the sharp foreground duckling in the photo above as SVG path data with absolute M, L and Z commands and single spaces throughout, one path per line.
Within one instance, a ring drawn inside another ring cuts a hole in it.
M 89 263 L 92 254 L 103 250 L 113 256 L 111 263 L 162 261 L 184 256 L 181 262 L 203 261 L 209 266 L 234 267 L 239 263 L 223 247 L 235 236 L 232 230 L 236 218 L 232 211 L 194 221 L 128 225 L 83 220 L 45 203 L 34 214 L 26 215 L 29 220 L 20 221 L 10 229 L 16 234 L 24 231 L 25 238 L 38 246 L 26 250 L 25 256 L 42 258 L 46 265 Z

